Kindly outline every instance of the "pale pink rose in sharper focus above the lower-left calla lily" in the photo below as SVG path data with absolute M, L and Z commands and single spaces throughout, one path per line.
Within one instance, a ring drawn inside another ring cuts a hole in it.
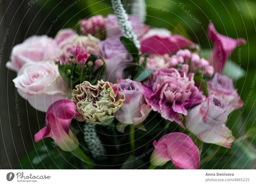
M 49 61 L 23 65 L 13 82 L 20 96 L 42 112 L 68 95 L 68 85 L 61 78 L 58 66 Z

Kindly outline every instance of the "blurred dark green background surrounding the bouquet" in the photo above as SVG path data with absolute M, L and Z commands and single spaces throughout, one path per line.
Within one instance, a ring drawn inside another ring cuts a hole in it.
M 28 3 L 31 2 L 31 6 Z M 34 2 L 34 3 L 32 3 Z M 131 3 L 130 1 L 123 1 Z M 73 3 L 72 6 L 70 6 Z M 228 120 L 228 127 L 233 131 L 238 141 L 233 144 L 232 150 L 218 149 L 219 146 L 211 146 L 211 149 L 203 151 L 205 156 L 209 156 L 204 160 L 203 168 L 255 168 L 255 147 L 256 147 L 256 86 L 251 89 L 252 80 L 256 74 L 256 28 L 254 19 L 256 18 L 256 1 L 255 0 L 147 0 L 147 20 L 146 24 L 156 27 L 164 27 L 169 30 L 175 30 L 175 26 L 180 24 L 188 32 L 190 38 L 200 45 L 202 51 L 199 53 L 206 59 L 209 56 L 209 49 L 212 43 L 207 37 L 207 26 L 211 19 L 216 30 L 233 38 L 244 38 L 247 45 L 241 46 L 241 60 L 244 75 L 239 76 L 236 88 L 241 98 L 245 101 L 248 99 L 250 90 L 253 90 L 250 100 L 246 104 L 243 114 L 240 110 L 233 112 Z M 180 3 L 183 8 L 180 8 Z M 185 5 L 185 7 L 184 7 Z M 155 6 L 162 7 L 159 10 Z M 67 7 L 68 10 L 67 10 Z M 62 1 L 15 1 L 0 2 L 1 14 L 1 37 L 4 37 L 6 28 L 10 28 L 10 34 L 4 48 L 3 62 L 7 62 L 10 58 L 11 49 L 14 45 L 21 43 L 24 39 L 31 35 L 43 35 L 47 32 L 52 21 L 58 18 L 54 24 L 49 36 L 54 37 L 61 28 L 76 28 L 80 19 L 102 14 L 107 16 L 113 13 L 110 0 L 62 0 Z M 129 7 L 126 7 L 129 8 Z M 131 8 L 131 7 L 130 7 Z M 165 11 L 163 11 L 165 8 Z M 17 11 L 16 11 L 17 10 Z M 67 10 L 67 11 L 66 11 Z M 197 18 L 201 24 L 192 20 L 183 10 L 190 11 L 192 16 Z M 7 12 L 7 13 L 6 13 Z M 176 30 L 177 31 L 177 30 Z M 236 74 L 238 63 L 238 50 L 236 49 L 231 55 L 234 61 L 230 65 L 231 60 L 227 61 L 226 75 L 232 77 Z M 19 97 L 21 113 L 21 126 L 17 126 L 17 119 L 13 115 L 15 113 L 15 88 L 12 79 L 16 77 L 16 73 L 9 71 L 2 63 L 1 85 L 1 149 L 0 149 L 0 165 L 1 168 L 17 168 L 20 159 L 33 149 L 33 137 L 38 131 L 38 122 L 43 122 L 44 113 L 36 112 L 26 101 Z M 231 68 L 229 68 L 231 66 Z M 230 74 L 229 74 L 230 73 Z M 27 110 L 25 107 L 27 106 Z M 245 137 L 245 140 L 244 140 Z M 206 145 L 207 146 L 207 145 Z M 216 152 L 215 150 L 218 151 Z M 211 154 L 215 153 L 215 157 Z M 224 155 L 223 155 L 224 154 Z M 216 157 L 216 155 L 218 157 Z M 234 158 L 236 156 L 236 158 Z M 214 159 L 213 159 L 214 158 Z M 217 160 L 216 160 L 217 159 Z M 231 163 L 229 167 L 226 163 Z

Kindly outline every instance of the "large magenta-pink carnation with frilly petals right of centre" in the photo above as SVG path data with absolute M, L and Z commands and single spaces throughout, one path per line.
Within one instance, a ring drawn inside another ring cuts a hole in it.
M 159 69 L 152 80 L 145 84 L 145 99 L 154 111 L 170 121 L 180 122 L 179 113 L 187 115 L 187 109 L 202 102 L 203 94 L 187 75 L 188 66 L 182 69 Z

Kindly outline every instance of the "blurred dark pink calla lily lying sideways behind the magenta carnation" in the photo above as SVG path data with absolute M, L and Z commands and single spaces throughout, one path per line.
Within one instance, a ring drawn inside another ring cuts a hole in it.
M 141 42 L 141 51 L 143 54 L 172 54 L 177 50 L 187 47 L 197 47 L 195 43 L 182 37 L 181 35 L 172 35 L 160 37 L 158 35 L 150 36 Z

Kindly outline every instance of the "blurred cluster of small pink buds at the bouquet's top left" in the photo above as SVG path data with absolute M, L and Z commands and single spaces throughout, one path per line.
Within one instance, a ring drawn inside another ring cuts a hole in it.
M 99 39 L 105 38 L 105 19 L 102 15 L 82 20 L 80 28 L 83 35 L 91 34 Z

